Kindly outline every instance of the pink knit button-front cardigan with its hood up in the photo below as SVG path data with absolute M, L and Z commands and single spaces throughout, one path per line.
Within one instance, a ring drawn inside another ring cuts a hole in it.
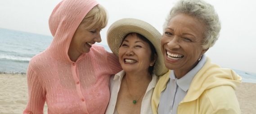
M 49 18 L 54 36 L 49 48 L 33 57 L 27 70 L 28 102 L 23 114 L 104 114 L 109 78 L 121 70 L 118 57 L 94 44 L 72 62 L 67 51 L 76 28 L 98 3 L 63 0 Z

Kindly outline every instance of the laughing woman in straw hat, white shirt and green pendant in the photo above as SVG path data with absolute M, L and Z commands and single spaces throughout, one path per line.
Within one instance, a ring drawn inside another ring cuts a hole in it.
M 107 41 L 122 71 L 110 79 L 106 114 L 152 114 L 151 96 L 159 75 L 168 70 L 160 49 L 161 34 L 147 22 L 124 18 L 108 29 Z

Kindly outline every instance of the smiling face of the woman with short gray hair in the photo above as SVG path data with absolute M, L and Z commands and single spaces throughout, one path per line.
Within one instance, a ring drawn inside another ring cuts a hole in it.
M 161 50 L 166 67 L 174 70 L 177 78 L 192 70 L 207 51 L 202 48 L 205 29 L 202 22 L 182 13 L 168 23 L 162 35 Z

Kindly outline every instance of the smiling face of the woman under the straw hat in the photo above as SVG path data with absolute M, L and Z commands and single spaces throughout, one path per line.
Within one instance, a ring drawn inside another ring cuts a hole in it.
M 135 33 L 127 35 L 119 48 L 119 62 L 126 73 L 148 73 L 151 49 L 149 44 Z

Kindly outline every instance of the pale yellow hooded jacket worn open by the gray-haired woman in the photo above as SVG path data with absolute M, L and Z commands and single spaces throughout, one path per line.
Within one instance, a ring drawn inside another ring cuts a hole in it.
M 171 70 L 160 77 L 152 96 L 153 114 L 157 108 L 162 91 L 165 90 Z M 177 114 L 240 114 L 234 90 L 242 78 L 233 70 L 221 68 L 207 61 L 193 78 L 187 95 L 179 103 Z

